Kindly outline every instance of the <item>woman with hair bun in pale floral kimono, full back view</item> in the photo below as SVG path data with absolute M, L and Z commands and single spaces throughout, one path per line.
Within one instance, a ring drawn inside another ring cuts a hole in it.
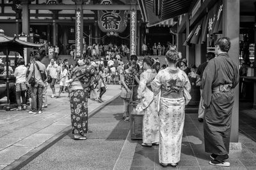
M 184 71 L 176 67 L 179 53 L 166 53 L 168 67 L 159 71 L 152 81 L 152 90 L 159 96 L 159 163 L 161 166 L 176 167 L 180 160 L 182 132 L 185 119 L 185 92 L 191 85 Z M 160 94 L 159 94 L 160 93 Z

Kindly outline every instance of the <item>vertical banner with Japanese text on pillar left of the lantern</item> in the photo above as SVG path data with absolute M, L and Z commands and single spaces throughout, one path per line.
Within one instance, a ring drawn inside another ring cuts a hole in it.
M 76 10 L 76 57 L 83 56 L 83 10 Z

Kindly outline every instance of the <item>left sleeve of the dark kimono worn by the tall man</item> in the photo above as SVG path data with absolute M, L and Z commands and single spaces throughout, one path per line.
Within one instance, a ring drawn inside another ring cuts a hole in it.
M 204 106 L 209 106 L 212 98 L 212 82 L 214 81 L 216 65 L 214 60 L 210 60 L 202 76 L 202 98 L 204 99 Z

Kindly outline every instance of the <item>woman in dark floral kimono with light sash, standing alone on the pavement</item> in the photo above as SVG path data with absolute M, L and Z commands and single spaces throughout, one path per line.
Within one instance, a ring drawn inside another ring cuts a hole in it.
M 70 80 L 71 124 L 74 139 L 85 140 L 88 131 L 88 92 L 95 80 L 95 68 L 79 60 Z

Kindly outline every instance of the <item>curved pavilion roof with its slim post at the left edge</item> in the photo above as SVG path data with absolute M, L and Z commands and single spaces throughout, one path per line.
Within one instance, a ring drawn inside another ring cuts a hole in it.
M 7 90 L 7 107 L 6 110 L 10 111 L 10 100 L 9 100 L 9 53 L 12 52 L 19 52 L 20 55 L 24 55 L 23 50 L 24 48 L 29 47 L 41 47 L 42 44 L 35 44 L 29 43 L 26 41 L 22 41 L 17 39 L 17 36 L 14 38 L 5 36 L 3 29 L 0 29 L 0 52 L 3 52 L 6 55 L 6 90 Z

